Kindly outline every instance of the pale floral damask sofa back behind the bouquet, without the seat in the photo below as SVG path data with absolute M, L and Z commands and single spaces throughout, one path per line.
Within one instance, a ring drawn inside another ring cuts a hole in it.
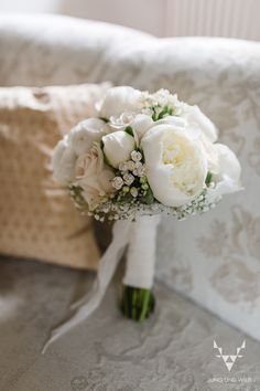
M 242 166 L 245 191 L 194 220 L 164 219 L 156 276 L 260 340 L 260 43 L 155 39 L 68 18 L 0 19 L 0 83 L 112 81 L 198 104 Z

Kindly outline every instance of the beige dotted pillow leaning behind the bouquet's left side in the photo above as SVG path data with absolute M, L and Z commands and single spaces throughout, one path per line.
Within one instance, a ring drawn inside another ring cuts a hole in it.
M 54 182 L 51 155 L 108 87 L 0 88 L 0 253 L 96 268 L 91 221 Z

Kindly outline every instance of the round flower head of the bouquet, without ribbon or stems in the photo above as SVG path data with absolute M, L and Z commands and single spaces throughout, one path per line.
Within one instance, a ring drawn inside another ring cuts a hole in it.
M 166 89 L 110 88 L 98 118 L 79 123 L 56 146 L 54 178 L 80 212 L 97 220 L 206 212 L 240 187 L 236 155 L 197 106 Z M 210 201 L 209 201 L 210 200 Z

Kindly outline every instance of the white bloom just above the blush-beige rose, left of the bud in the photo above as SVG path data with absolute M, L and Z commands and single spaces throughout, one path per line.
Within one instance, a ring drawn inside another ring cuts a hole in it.
M 88 118 L 76 125 L 69 133 L 68 144 L 77 156 L 86 154 L 94 145 L 100 141 L 108 131 L 106 123 L 98 118 Z

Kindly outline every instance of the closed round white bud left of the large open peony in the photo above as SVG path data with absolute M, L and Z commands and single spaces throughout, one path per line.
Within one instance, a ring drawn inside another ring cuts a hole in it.
M 134 138 L 124 130 L 110 133 L 102 137 L 104 154 L 109 165 L 118 168 L 120 162 L 130 159 L 136 147 Z

